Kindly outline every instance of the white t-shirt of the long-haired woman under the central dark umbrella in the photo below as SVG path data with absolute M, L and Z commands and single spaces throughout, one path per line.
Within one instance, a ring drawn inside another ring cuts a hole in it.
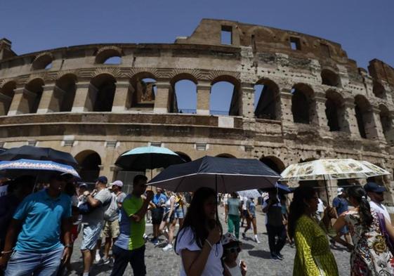
M 183 249 L 189 251 L 201 251 L 197 242 L 194 240 L 194 234 L 190 228 L 180 230 L 176 237 L 176 254 L 181 256 Z M 223 246 L 221 243 L 214 244 L 209 253 L 208 260 L 206 260 L 204 271 L 201 276 L 218 276 L 223 275 L 223 266 L 221 257 L 223 256 Z M 185 269 L 183 268 L 183 261 L 180 261 L 180 276 L 186 276 Z

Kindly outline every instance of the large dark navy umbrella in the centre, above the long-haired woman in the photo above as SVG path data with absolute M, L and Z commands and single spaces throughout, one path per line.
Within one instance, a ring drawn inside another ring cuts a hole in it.
M 258 159 L 202 157 L 192 162 L 169 166 L 149 185 L 174 192 L 194 192 L 209 187 L 216 192 L 237 192 L 274 187 L 280 175 Z

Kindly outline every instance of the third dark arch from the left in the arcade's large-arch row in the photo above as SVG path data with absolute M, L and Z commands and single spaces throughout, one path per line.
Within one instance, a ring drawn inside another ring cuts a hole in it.
M 55 89 L 60 90 L 59 97 L 59 111 L 69 112 L 72 110 L 72 104 L 74 103 L 75 91 L 77 91 L 77 76 L 75 74 L 64 74 L 55 83 Z

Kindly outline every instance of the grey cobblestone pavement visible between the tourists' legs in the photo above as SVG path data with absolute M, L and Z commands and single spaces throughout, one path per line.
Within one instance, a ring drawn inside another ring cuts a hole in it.
M 221 210 L 223 211 L 223 210 Z M 223 216 L 221 216 L 223 218 Z M 287 244 L 282 250 L 284 255 L 283 261 L 273 261 L 270 259 L 270 252 L 268 249 L 268 236 L 265 233 L 265 226 L 263 226 L 264 216 L 263 213 L 258 213 L 258 238 L 261 244 L 256 244 L 253 241 L 253 232 L 249 230 L 247 239 L 243 239 L 242 251 L 239 254 L 239 259 L 246 261 L 247 263 L 247 275 L 292 275 L 294 255 L 296 249 L 289 247 Z M 227 225 L 222 222 L 223 231 L 227 230 Z M 243 228 L 241 228 L 243 231 Z M 146 228 L 147 235 L 152 233 L 152 226 L 147 224 Z M 81 252 L 79 251 L 80 237 L 74 244 L 74 252 L 72 255 L 72 273 L 71 275 L 79 275 L 82 271 L 82 259 Z M 180 257 L 177 256 L 173 251 L 164 252 L 164 241 L 158 246 L 154 246 L 150 242 L 146 244 L 145 251 L 145 263 L 147 265 L 148 276 L 173 276 L 179 275 Z M 339 249 L 333 249 L 332 252 L 336 258 L 336 262 L 339 266 L 339 275 L 345 276 L 350 275 L 350 254 L 342 247 Z M 110 275 L 111 268 L 109 265 L 93 265 L 91 275 Z M 133 275 L 133 272 L 129 267 L 127 268 L 125 275 Z

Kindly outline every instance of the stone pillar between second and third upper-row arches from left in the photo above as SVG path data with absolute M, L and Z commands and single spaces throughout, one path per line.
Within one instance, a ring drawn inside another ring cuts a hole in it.
M 66 92 L 55 84 L 46 84 L 43 88 L 37 113 L 59 112 Z

